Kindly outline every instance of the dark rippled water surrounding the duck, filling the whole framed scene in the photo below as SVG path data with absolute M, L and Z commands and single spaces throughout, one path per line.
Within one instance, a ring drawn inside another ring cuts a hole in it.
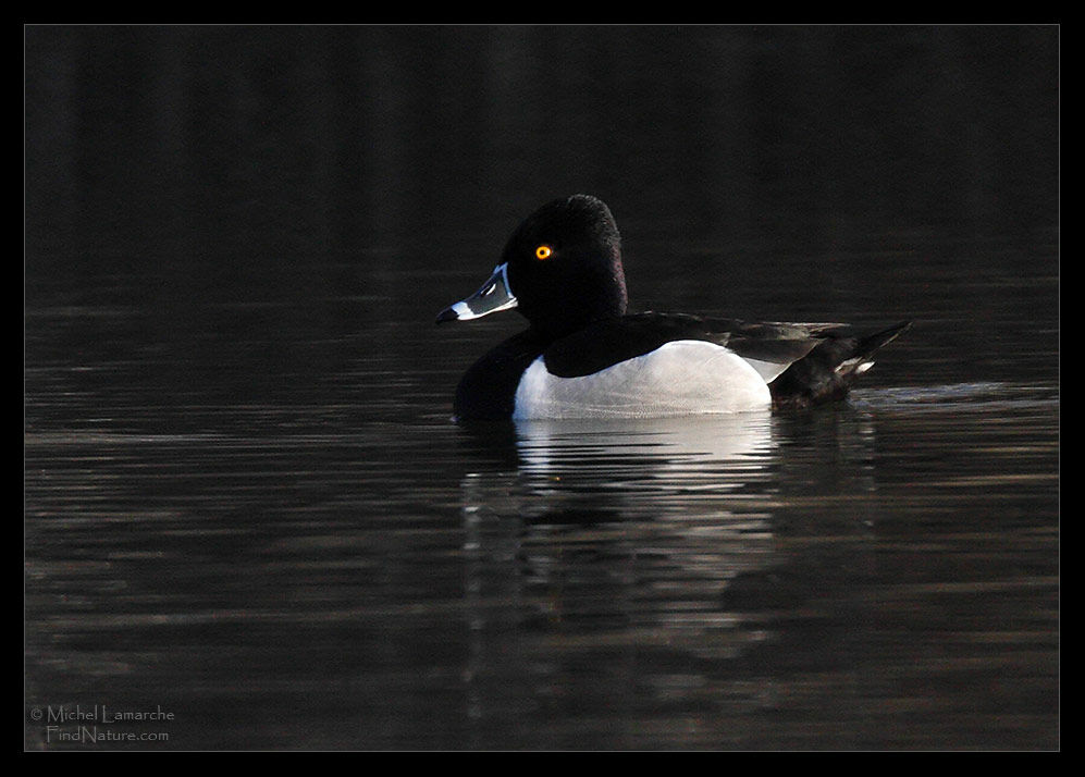
M 25 747 L 1059 748 L 1058 45 L 27 28 Z M 807 414 L 451 423 L 521 321 L 434 314 L 581 190 L 637 308 L 915 328 Z

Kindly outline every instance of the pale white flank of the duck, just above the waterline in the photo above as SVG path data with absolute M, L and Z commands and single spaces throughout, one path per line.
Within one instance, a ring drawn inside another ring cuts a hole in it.
M 557 378 L 542 357 L 523 372 L 515 419 L 657 418 L 757 410 L 765 379 L 727 348 L 679 340 L 582 378 Z

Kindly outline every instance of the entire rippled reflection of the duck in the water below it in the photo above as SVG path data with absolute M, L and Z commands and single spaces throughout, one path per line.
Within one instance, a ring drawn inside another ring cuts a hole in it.
M 787 671 L 807 645 L 854 649 L 810 624 L 826 597 L 847 602 L 868 563 L 862 507 L 833 525 L 834 542 L 801 539 L 826 535 L 804 531 L 826 516 L 804 505 L 873 488 L 868 421 L 839 405 L 463 425 L 480 456 L 460 491 L 469 736 L 554 745 L 537 721 L 558 718 L 585 747 L 595 740 L 580 711 L 606 705 L 628 714 L 607 726 L 658 747 L 658 719 L 638 711 L 730 716 L 741 731 L 744 716 L 773 715 L 777 687 L 792 687 L 773 667 Z M 865 606 L 844 612 L 868 622 Z M 728 741 L 724 728 L 706 727 L 703 743 Z

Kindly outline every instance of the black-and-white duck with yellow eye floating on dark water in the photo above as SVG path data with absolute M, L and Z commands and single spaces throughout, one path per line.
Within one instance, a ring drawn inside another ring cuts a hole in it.
M 457 421 L 658 418 L 802 409 L 843 398 L 907 331 L 629 312 L 611 209 L 578 194 L 525 219 L 478 291 L 437 324 L 516 310 L 528 328 L 456 387 Z

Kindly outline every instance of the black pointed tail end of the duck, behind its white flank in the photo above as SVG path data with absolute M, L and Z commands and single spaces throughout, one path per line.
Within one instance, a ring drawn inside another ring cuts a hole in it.
M 862 373 L 874 366 L 874 354 L 912 326 L 902 321 L 874 334 L 828 336 L 769 383 L 777 408 L 803 408 L 843 397 Z

